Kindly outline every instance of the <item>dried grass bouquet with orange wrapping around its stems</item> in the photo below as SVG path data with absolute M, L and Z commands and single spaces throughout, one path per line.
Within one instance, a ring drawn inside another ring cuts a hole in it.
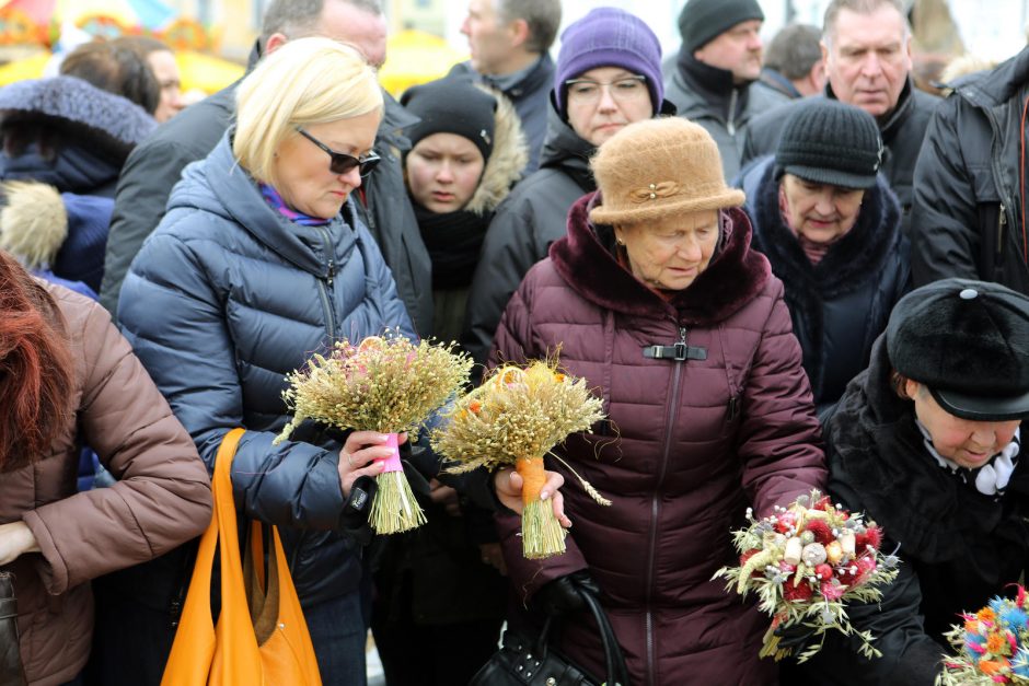
M 564 553 L 565 530 L 551 504 L 540 500 L 546 482 L 543 455 L 569 433 L 587 431 L 603 419 L 601 402 L 590 394 L 585 380 L 560 373 L 556 360 L 535 361 L 525 368 L 506 364 L 458 400 L 448 416 L 450 421 L 430 438 L 439 455 L 456 463 L 449 470 L 512 465 L 524 479 L 522 554 L 539 559 Z M 571 469 L 567 463 L 565 466 Z M 578 474 L 576 477 L 594 500 L 611 504 Z

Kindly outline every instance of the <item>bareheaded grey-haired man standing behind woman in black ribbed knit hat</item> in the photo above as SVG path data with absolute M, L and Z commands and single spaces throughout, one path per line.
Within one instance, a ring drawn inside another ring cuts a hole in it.
M 879 123 L 881 172 L 901 202 L 906 235 L 915 161 L 939 98 L 915 89 L 911 80 L 911 30 L 902 2 L 833 0 L 825 10 L 822 55 L 829 75 L 823 96 L 857 105 Z M 779 108 L 751 121 L 744 166 L 775 151 L 788 118 L 788 111 Z

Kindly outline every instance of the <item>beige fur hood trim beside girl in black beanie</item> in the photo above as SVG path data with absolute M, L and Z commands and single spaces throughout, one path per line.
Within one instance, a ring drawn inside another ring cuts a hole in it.
M 485 214 L 497 209 L 514 183 L 521 178 L 522 170 L 529 163 L 529 146 L 522 131 L 521 119 L 518 118 L 518 112 L 511 101 L 499 91 L 477 83 L 475 85 L 497 100 L 493 153 L 486 161 L 478 188 L 464 207 L 469 212 Z

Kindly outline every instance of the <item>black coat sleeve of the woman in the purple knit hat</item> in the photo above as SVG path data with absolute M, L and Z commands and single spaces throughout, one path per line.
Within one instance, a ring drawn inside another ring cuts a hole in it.
M 522 278 L 540 259 L 533 244 L 536 217 L 531 202 L 521 196 L 511 197 L 497 208 L 489 222 L 483 252 L 469 292 L 463 345 L 479 364 L 485 364 L 504 309 Z

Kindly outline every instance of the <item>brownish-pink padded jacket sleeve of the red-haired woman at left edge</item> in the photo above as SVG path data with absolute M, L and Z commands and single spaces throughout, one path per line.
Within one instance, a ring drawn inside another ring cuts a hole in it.
M 99 304 L 65 302 L 90 310 L 76 335 L 85 379 L 77 422 L 118 481 L 25 513 L 53 594 L 163 555 L 199 535 L 211 514 L 196 446 L 128 342 Z

